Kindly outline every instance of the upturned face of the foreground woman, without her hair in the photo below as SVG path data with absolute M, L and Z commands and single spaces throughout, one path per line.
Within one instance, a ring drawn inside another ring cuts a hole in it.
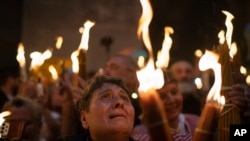
M 112 133 L 130 135 L 134 112 L 128 94 L 115 84 L 105 83 L 93 92 L 89 111 L 81 113 L 81 121 L 92 138 Z

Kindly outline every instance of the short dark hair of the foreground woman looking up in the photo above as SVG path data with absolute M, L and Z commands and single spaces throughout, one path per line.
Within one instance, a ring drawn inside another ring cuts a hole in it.
M 84 94 L 77 102 L 77 109 L 79 112 L 82 110 L 89 110 L 90 100 L 93 96 L 93 92 L 100 88 L 104 83 L 111 83 L 121 87 L 128 95 L 129 91 L 124 85 L 123 81 L 117 77 L 110 77 L 106 75 L 96 75 L 88 81 L 87 86 L 84 89 Z

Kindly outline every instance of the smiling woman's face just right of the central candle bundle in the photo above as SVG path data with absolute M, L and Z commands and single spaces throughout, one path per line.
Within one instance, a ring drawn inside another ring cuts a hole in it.
M 183 97 L 176 83 L 168 83 L 158 90 L 169 121 L 178 119 L 182 111 Z

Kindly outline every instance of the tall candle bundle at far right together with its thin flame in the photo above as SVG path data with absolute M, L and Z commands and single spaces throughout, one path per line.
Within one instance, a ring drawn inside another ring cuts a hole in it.
M 223 108 L 222 113 L 219 117 L 219 123 L 218 123 L 218 140 L 219 141 L 225 141 L 229 140 L 229 127 L 230 124 L 240 124 L 241 123 L 241 117 L 240 117 L 240 109 L 233 105 L 228 100 L 228 90 L 230 87 L 235 83 L 237 73 L 239 73 L 239 60 L 237 62 L 234 62 L 232 50 L 234 49 L 231 44 L 231 36 L 233 31 L 233 26 L 231 23 L 231 20 L 234 18 L 233 15 L 231 15 L 227 11 L 222 11 L 224 14 L 227 15 L 226 18 L 226 26 L 227 26 L 227 33 L 226 33 L 226 40 L 223 44 L 220 44 L 216 51 L 218 54 L 220 54 L 219 62 L 222 65 L 222 92 L 221 95 L 225 96 L 226 99 L 226 105 Z

